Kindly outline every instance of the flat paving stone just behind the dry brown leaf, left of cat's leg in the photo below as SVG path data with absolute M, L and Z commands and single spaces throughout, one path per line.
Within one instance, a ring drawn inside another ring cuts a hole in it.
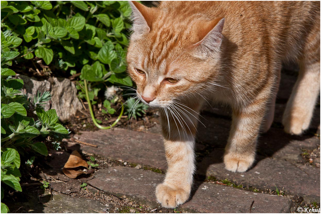
M 79 140 L 95 144 L 91 147 L 68 142 L 68 149 L 96 154 L 101 157 L 139 163 L 159 169 L 166 168 L 163 140 L 160 135 L 114 128 L 109 130 L 83 131 L 75 135 Z M 121 162 L 122 162 L 121 161 Z

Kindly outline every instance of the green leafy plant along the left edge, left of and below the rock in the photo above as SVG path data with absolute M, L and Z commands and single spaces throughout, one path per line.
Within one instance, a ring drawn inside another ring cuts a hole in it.
M 1 5 L 3 3 L 1 2 Z M 27 117 L 28 105 L 31 104 L 25 95 L 21 95 L 23 80 L 14 76 L 15 72 L 8 68 L 12 65 L 19 52 L 16 47 L 22 39 L 1 31 L 1 182 L 16 191 L 22 191 L 20 186 L 20 154 L 19 149 L 29 148 L 41 155 L 48 155 L 47 146 L 43 142 L 35 142 L 38 136 L 50 136 L 53 139 L 65 138 L 69 131 L 58 121 L 56 110 L 44 111 L 41 107 L 48 101 L 48 93 L 38 94 L 35 102 L 36 113 L 39 121 Z M 38 106 L 38 107 L 37 107 Z M 34 157 L 31 157 L 27 165 L 31 165 Z M 4 185 L 4 186 L 5 186 Z M 4 197 L 4 189 L 1 186 L 1 199 Z M 8 207 L 1 203 L 1 212 L 8 212 Z

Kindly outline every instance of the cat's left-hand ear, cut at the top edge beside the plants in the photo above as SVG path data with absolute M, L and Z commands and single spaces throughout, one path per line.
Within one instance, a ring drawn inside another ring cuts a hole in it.
M 158 8 L 146 7 L 135 1 L 129 1 L 132 8 L 132 30 L 134 34 L 141 35 L 148 33 L 152 28 L 152 23 L 155 21 L 155 16 L 158 13 Z

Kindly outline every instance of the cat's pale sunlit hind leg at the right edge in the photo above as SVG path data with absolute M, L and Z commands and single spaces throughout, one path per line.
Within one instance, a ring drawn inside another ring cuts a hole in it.
M 320 61 L 302 64 L 283 114 L 282 123 L 286 133 L 300 135 L 308 129 L 319 92 Z

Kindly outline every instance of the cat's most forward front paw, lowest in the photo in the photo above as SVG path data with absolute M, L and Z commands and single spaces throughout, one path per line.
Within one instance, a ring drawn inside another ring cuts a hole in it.
M 183 189 L 174 189 L 166 184 L 160 184 L 156 187 L 157 201 L 165 208 L 175 208 L 183 204 L 189 198 L 189 192 Z

